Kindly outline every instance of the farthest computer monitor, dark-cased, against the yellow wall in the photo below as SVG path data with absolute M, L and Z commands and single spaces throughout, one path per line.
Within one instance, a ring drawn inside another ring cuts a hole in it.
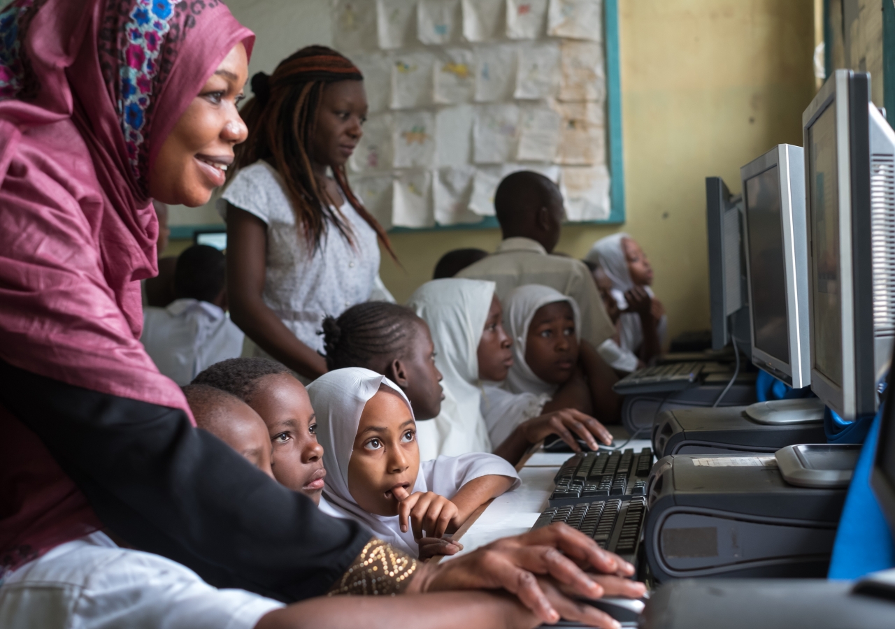
M 729 344 L 731 334 L 740 346 L 749 344 L 742 208 L 742 196 L 732 196 L 720 177 L 705 178 L 713 350 Z

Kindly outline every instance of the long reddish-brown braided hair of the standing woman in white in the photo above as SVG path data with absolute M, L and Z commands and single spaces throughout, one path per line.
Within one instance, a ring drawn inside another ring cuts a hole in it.
M 363 81 L 363 74 L 347 57 L 324 46 L 304 47 L 281 61 L 273 74 L 258 72 L 252 76 L 254 97 L 240 111 L 249 135 L 235 147 L 234 168 L 228 173 L 232 177 L 240 168 L 260 159 L 274 166 L 286 183 L 295 223 L 314 249 L 320 246 L 320 237 L 330 223 L 348 242 L 353 242 L 350 226 L 324 202 L 311 170 L 311 140 L 323 89 L 337 81 Z M 332 172 L 345 198 L 396 259 L 385 229 L 354 196 L 345 166 L 333 166 Z

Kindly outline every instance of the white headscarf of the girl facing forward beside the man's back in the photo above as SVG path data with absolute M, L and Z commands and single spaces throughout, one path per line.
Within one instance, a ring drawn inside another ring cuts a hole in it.
M 534 371 L 525 362 L 525 341 L 528 327 L 532 325 L 534 313 L 549 303 L 567 302 L 572 307 L 575 317 L 575 334 L 580 334 L 581 316 L 575 299 L 560 293 L 550 286 L 529 284 L 514 288 L 507 294 L 504 303 L 504 325 L 513 339 L 513 366 L 504 382 L 504 387 L 511 393 L 533 393 L 535 395 L 553 395 L 557 386 L 544 382 L 534 375 Z

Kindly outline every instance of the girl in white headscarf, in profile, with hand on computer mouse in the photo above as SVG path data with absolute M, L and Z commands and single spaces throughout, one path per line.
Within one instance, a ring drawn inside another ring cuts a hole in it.
M 583 412 L 573 408 L 543 412 L 537 395 L 507 398 L 509 394 L 499 390 L 498 383 L 507 378 L 514 359 L 494 286 L 484 280 L 432 280 L 407 304 L 429 325 L 445 395 L 439 415 L 419 425 L 422 459 L 493 449 L 516 463 L 528 446 L 551 434 L 580 450 L 572 432 L 594 450 L 594 436 L 611 443 L 609 431 Z

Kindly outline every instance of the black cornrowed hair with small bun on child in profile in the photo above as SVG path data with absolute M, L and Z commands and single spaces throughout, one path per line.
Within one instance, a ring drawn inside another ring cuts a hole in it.
M 327 369 L 364 367 L 381 373 L 404 355 L 417 321 L 422 319 L 413 310 L 389 302 L 358 303 L 338 319 L 323 319 Z

